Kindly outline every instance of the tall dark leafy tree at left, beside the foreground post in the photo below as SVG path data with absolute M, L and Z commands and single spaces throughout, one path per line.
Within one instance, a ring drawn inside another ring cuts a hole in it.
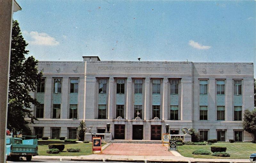
M 30 104 L 36 105 L 38 102 L 29 95 L 29 92 L 35 92 L 42 73 L 38 73 L 38 61 L 33 56 L 25 57 L 29 52 L 26 50 L 27 45 L 21 35 L 18 21 L 12 21 L 7 128 L 14 131 L 14 134 L 16 131 L 29 130 L 27 124 L 34 123 L 36 119 L 30 110 Z M 25 120 L 25 117 L 31 121 Z

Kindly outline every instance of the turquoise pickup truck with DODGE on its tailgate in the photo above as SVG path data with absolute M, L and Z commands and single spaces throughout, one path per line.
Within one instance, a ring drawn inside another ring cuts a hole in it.
M 27 138 L 28 136 L 6 136 L 6 160 L 15 161 L 19 157 L 26 157 L 30 161 L 32 156 L 38 155 L 37 139 Z

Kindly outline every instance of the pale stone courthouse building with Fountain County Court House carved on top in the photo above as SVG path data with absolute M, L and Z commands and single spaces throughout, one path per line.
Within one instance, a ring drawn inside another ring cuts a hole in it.
M 39 61 L 38 121 L 29 124 L 37 136 L 76 138 L 84 120 L 93 133 L 109 123 L 113 139 L 160 140 L 169 124 L 171 134 L 195 128 L 202 141 L 252 140 L 243 114 L 254 108 L 253 63 L 83 59 Z

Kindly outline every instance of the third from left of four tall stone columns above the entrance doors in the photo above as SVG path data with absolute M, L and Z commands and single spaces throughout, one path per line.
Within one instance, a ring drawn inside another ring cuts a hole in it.
M 149 108 L 149 103 L 150 103 L 150 92 L 149 92 L 149 87 L 150 87 L 150 79 L 146 78 L 145 79 L 145 100 L 144 100 L 144 120 L 149 120 L 149 111 L 151 110 Z

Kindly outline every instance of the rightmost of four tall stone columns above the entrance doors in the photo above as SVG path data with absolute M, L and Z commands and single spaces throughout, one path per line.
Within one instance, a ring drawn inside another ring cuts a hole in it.
M 168 119 L 168 79 L 164 78 L 163 80 L 163 109 L 162 109 L 162 120 Z

